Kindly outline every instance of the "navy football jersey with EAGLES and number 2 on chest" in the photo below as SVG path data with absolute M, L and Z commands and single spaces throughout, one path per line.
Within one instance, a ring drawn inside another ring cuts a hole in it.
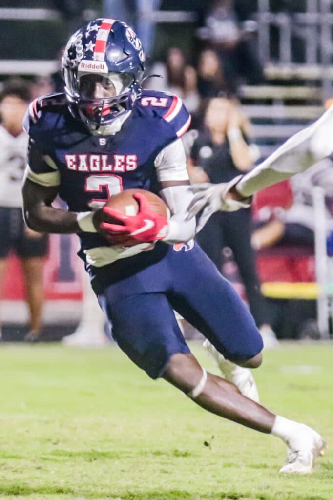
M 75 212 L 102 206 L 123 189 L 156 192 L 158 180 L 187 179 L 183 171 L 160 174 L 155 160 L 188 128 L 190 116 L 179 97 L 143 90 L 121 129 L 113 135 L 92 134 L 74 119 L 65 94 L 33 101 L 24 119 L 29 133 L 26 176 L 58 186 L 59 196 Z M 82 249 L 109 246 L 97 233 L 80 233 Z M 136 245 L 138 246 L 138 245 Z M 128 250 L 130 254 L 130 250 Z M 127 256 L 126 254 L 123 256 Z

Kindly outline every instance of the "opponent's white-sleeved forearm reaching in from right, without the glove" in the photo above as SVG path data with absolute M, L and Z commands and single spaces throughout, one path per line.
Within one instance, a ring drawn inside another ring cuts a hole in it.
M 306 170 L 333 150 L 331 130 L 333 109 L 326 111 L 311 126 L 290 137 L 262 163 L 245 174 L 237 183 L 236 190 L 242 196 L 250 196 L 292 175 Z

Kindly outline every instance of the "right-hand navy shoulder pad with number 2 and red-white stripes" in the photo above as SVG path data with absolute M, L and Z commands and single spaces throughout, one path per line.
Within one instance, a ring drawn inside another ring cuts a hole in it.
M 188 129 L 191 117 L 180 97 L 166 92 L 143 90 L 140 98 L 143 108 L 151 108 L 170 124 L 177 137 L 181 137 Z

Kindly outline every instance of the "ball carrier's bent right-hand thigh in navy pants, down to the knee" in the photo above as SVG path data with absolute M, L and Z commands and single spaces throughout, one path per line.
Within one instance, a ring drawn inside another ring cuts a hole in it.
M 171 305 L 226 359 L 257 367 L 262 339 L 248 307 L 211 260 L 194 245 L 172 255 Z

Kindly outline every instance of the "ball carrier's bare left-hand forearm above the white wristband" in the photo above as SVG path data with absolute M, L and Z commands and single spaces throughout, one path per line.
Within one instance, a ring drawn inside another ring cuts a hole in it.
M 81 230 L 75 212 L 41 203 L 29 209 L 24 208 L 24 220 L 30 229 L 38 232 L 69 234 Z

